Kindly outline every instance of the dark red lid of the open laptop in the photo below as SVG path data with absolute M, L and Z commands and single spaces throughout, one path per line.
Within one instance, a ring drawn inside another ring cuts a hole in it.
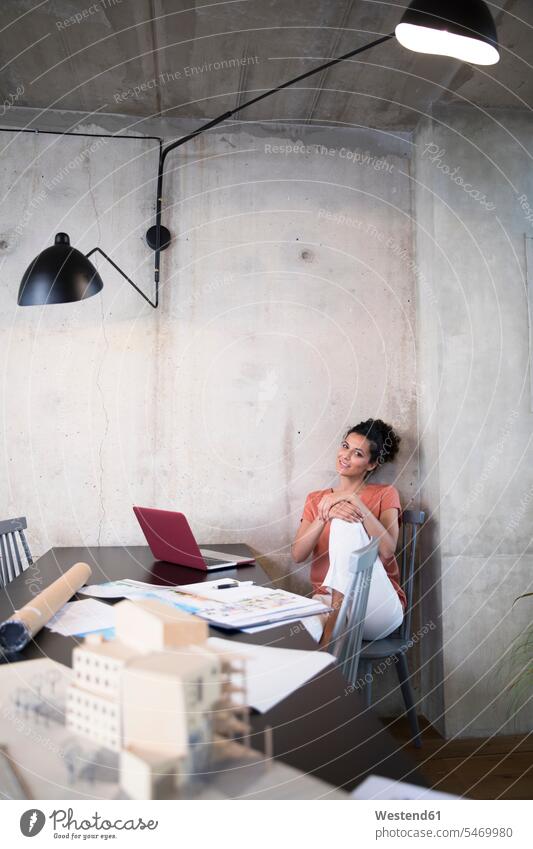
M 134 507 L 133 512 L 157 560 L 207 571 L 198 543 L 183 513 L 151 507 Z

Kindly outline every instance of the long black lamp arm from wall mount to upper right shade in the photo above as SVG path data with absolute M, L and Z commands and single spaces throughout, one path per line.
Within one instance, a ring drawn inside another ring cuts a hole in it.
M 186 136 L 182 136 L 182 138 L 177 139 L 176 141 L 168 144 L 164 147 L 159 154 L 159 170 L 157 175 L 157 203 L 156 203 L 156 246 L 155 246 L 155 268 L 154 268 L 154 276 L 155 276 L 155 284 L 156 284 L 156 292 L 159 283 L 159 260 L 161 255 L 161 207 L 163 203 L 163 175 L 165 170 L 165 160 L 169 153 L 175 150 L 177 147 L 181 147 L 182 144 L 185 144 L 191 139 L 196 138 L 201 133 L 205 133 L 206 130 L 210 130 L 213 127 L 216 127 L 217 124 L 221 124 L 222 121 L 227 121 L 228 118 L 232 118 L 233 115 L 236 115 L 237 112 L 241 112 L 243 109 L 246 109 L 248 106 L 252 106 L 254 103 L 259 103 L 260 100 L 264 100 L 265 97 L 270 97 L 271 94 L 276 94 L 278 91 L 282 91 L 284 88 L 288 88 L 295 83 L 299 83 L 302 80 L 311 77 L 313 74 L 318 74 L 320 71 L 325 71 L 327 68 L 332 68 L 333 65 L 338 65 L 339 62 L 344 62 L 346 59 L 351 59 L 352 56 L 357 56 L 358 53 L 363 53 L 365 50 L 370 50 L 371 47 L 377 47 L 378 44 L 383 44 L 385 41 L 389 41 L 391 38 L 395 38 L 395 33 L 391 32 L 388 35 L 383 35 L 381 38 L 376 38 L 375 41 L 371 41 L 369 44 L 363 45 L 363 47 L 356 47 L 355 50 L 350 50 L 348 53 L 343 53 L 342 56 L 337 56 L 335 59 L 330 59 L 329 62 L 324 62 L 323 65 L 319 65 L 317 68 L 312 68 L 310 71 L 306 71 L 303 74 L 300 74 L 297 77 L 294 77 L 292 80 L 288 80 L 286 83 L 281 83 L 281 85 L 276 86 L 276 88 L 271 88 L 268 91 L 263 92 L 263 94 L 258 94 L 257 97 L 252 98 L 252 100 L 247 100 L 245 103 L 241 103 L 240 106 L 237 106 L 235 109 L 230 109 L 229 112 L 224 112 L 223 115 L 219 115 L 218 118 L 213 118 L 211 121 L 208 121 L 206 124 L 202 124 L 201 127 L 198 127 L 197 130 L 194 130 L 192 133 L 188 133 Z M 105 254 L 104 254 L 105 256 Z M 109 257 L 107 257 L 109 259 Z M 113 263 L 114 264 L 114 263 Z M 120 271 L 120 269 L 119 269 Z M 125 276 L 125 275 L 124 275 Z M 126 278 L 128 279 L 128 278 Z M 129 281 L 131 283 L 131 280 Z M 132 284 L 135 285 L 135 284 Z M 135 286 L 137 289 L 137 287 Z M 137 291 L 139 291 L 137 289 Z M 141 292 L 142 294 L 142 292 Z M 143 295 L 143 297 L 145 297 Z M 148 298 L 146 298 L 148 300 Z M 157 296 L 156 296 L 157 300 Z M 151 301 L 149 301 L 151 303 Z M 156 303 L 157 305 L 157 303 Z M 154 304 L 152 304 L 154 306 Z

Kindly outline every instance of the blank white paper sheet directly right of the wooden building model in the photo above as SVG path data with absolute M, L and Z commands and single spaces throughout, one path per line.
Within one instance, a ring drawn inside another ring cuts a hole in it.
M 246 659 L 248 704 L 260 713 L 266 713 L 335 662 L 333 655 L 320 651 L 252 646 L 219 637 L 210 637 L 207 642 L 217 651 Z

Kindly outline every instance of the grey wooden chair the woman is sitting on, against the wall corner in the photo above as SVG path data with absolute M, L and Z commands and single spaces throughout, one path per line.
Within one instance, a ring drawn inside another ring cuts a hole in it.
M 413 604 L 413 582 L 415 571 L 416 546 L 420 526 L 424 524 L 425 513 L 416 510 L 406 510 L 402 514 L 402 550 L 400 558 L 400 584 L 407 597 L 405 616 L 400 627 L 389 637 L 382 640 L 363 640 L 361 646 L 360 665 L 365 680 L 365 695 L 368 707 L 372 704 L 372 670 L 375 661 L 392 658 L 398 673 L 402 696 L 405 703 L 407 718 L 414 744 L 417 749 L 422 746 L 420 728 L 413 690 L 410 683 L 407 652 L 413 645 L 411 640 L 411 611 Z

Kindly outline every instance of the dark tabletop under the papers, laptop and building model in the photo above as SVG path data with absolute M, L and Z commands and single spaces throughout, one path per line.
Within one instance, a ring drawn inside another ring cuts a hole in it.
M 238 545 L 212 545 L 216 550 L 247 555 Z M 89 563 L 91 583 L 132 578 L 161 585 L 195 583 L 217 577 L 271 584 L 257 563 L 210 573 L 155 561 L 146 546 L 53 548 L 0 591 L 0 621 L 26 604 L 77 561 Z M 215 631 L 225 639 L 278 648 L 316 649 L 301 623 L 283 625 L 257 634 Z M 78 641 L 43 628 L 17 655 L 17 660 L 48 657 L 66 665 Z M 15 659 L 15 658 L 13 658 Z M 358 692 L 350 692 L 341 673 L 330 666 L 300 687 L 268 713 L 252 716 L 252 745 L 263 748 L 262 729 L 273 729 L 275 757 L 336 787 L 352 790 L 367 775 L 403 779 L 427 786 L 413 760 L 398 749 L 378 716 Z

